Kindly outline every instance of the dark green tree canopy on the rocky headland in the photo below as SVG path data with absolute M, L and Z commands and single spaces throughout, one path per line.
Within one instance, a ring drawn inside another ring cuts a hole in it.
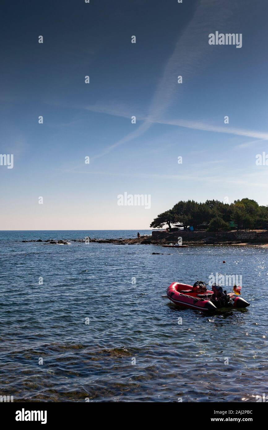
M 234 203 L 222 203 L 219 200 L 206 200 L 197 203 L 194 200 L 179 201 L 172 209 L 154 218 L 150 227 L 162 228 L 172 224 L 194 229 L 208 226 L 210 231 L 232 230 L 235 225 L 240 229 L 266 229 L 268 225 L 268 206 L 259 206 L 255 200 L 244 198 Z

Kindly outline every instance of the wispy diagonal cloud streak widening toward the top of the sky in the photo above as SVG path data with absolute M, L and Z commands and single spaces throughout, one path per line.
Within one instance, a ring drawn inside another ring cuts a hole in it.
M 216 23 L 217 25 L 223 24 L 227 18 L 230 19 L 230 15 L 231 4 L 228 8 L 226 5 L 218 5 L 217 8 L 215 8 L 211 0 L 201 0 L 199 2 L 191 21 L 177 40 L 173 53 L 166 63 L 163 75 L 157 84 L 145 122 L 139 126 L 136 132 L 129 133 L 95 157 L 92 157 L 93 159 L 102 157 L 115 147 L 125 144 L 134 138 L 138 138 L 147 131 L 153 123 L 162 122 L 163 115 L 174 100 L 174 95 L 178 97 L 179 91 L 182 91 L 182 86 L 177 83 L 178 74 L 185 77 L 187 76 L 189 79 L 191 75 L 196 74 L 197 70 L 199 70 L 199 64 L 204 56 L 208 55 L 208 52 L 211 52 L 211 50 L 209 51 L 209 44 L 204 43 L 200 34 L 209 32 Z M 86 108 L 100 112 L 100 106 Z M 113 113 L 111 113 L 111 111 L 113 111 Z M 118 107 L 115 107 L 115 109 L 109 109 L 109 107 L 102 108 L 103 113 L 109 112 L 113 115 L 116 114 L 116 112 L 118 114 L 119 111 L 121 111 L 120 116 L 126 117 L 126 110 L 122 114 L 122 110 L 118 109 Z

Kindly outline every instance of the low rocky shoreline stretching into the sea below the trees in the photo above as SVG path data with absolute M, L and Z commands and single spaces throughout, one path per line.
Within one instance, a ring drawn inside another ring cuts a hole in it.
M 28 242 L 37 242 L 42 243 L 43 245 L 71 245 L 71 243 L 86 243 L 86 239 L 73 239 L 73 240 L 54 240 L 54 239 L 46 239 L 46 240 L 22 240 L 24 243 Z M 87 239 L 87 243 L 112 243 L 114 245 L 166 245 L 169 243 L 168 240 L 165 239 L 153 239 L 151 235 L 141 236 L 139 239 Z M 242 242 L 241 240 L 234 241 L 217 241 L 216 238 L 207 237 L 203 240 L 191 241 L 184 240 L 184 245 L 188 246 L 202 246 L 202 245 L 237 245 L 237 246 L 262 246 L 268 247 L 268 243 L 251 243 L 251 242 Z

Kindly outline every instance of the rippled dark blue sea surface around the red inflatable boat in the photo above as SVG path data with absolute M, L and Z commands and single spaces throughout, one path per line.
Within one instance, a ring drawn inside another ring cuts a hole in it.
M 0 232 L 0 395 L 255 402 L 267 393 L 268 249 L 21 242 L 85 236 L 136 231 Z M 207 315 L 161 297 L 175 280 L 216 272 L 242 275 L 250 307 Z

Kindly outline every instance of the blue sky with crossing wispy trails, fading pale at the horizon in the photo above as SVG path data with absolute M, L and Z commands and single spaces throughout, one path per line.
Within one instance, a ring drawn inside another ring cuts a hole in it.
M 14 167 L 0 166 L 0 230 L 146 229 L 179 200 L 268 204 L 268 5 L 216 3 L 3 1 L 0 153 Z M 242 48 L 209 45 L 216 31 Z M 151 208 L 118 206 L 124 192 Z

